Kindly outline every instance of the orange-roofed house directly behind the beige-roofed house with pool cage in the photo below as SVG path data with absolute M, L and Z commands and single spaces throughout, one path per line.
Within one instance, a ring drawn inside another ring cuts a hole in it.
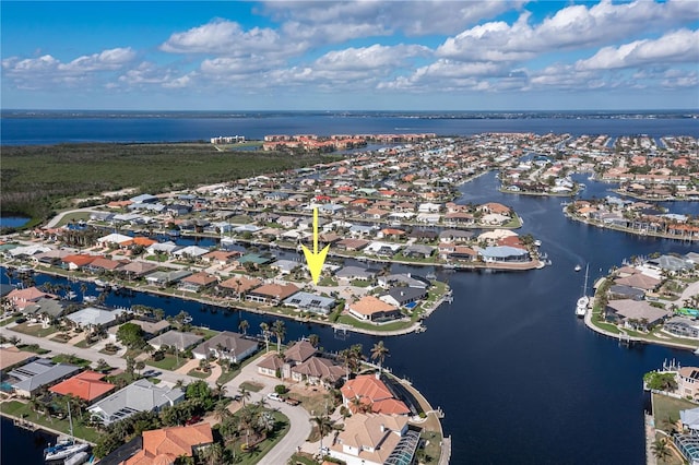
M 410 415 L 411 413 L 402 401 L 393 397 L 383 381 L 378 379 L 378 373 L 360 374 L 354 380 L 347 381 L 340 389 L 340 392 L 342 392 L 344 406 L 355 413 L 357 410 L 356 398 L 363 404 L 371 405 L 371 412 L 375 414 Z

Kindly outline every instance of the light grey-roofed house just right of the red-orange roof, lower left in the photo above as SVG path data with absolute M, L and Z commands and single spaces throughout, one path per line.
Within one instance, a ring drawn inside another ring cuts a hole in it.
M 183 400 L 182 390 L 159 386 L 143 379 L 93 404 L 87 412 L 104 426 L 109 426 L 138 412 L 159 412 L 163 407 L 179 404 Z

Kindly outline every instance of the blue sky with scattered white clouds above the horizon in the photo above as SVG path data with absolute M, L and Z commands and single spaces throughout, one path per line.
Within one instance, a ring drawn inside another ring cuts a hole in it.
M 699 1 L 2 1 L 2 108 L 699 108 Z

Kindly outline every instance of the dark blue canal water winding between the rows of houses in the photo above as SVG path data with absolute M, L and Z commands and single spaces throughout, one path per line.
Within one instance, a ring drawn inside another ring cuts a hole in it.
M 613 194 L 611 186 L 584 180 L 582 198 Z M 461 203 L 500 202 L 524 220 L 520 234 L 542 240 L 552 266 L 521 273 L 437 272 L 454 293 L 426 321 L 427 331 L 384 339 L 386 366 L 410 379 L 435 407 L 445 412 L 454 464 L 641 464 L 644 463 L 641 389 L 644 372 L 675 358 L 699 365 L 689 351 L 656 346 L 619 346 L 589 331 L 574 317 L 584 276 L 576 264 L 590 264 L 590 283 L 632 255 L 687 253 L 695 245 L 636 237 L 566 218 L 567 198 L 536 198 L 497 191 L 494 172 L 461 187 Z M 668 204 L 674 212 L 698 214 L 699 204 Z M 416 271 L 419 273 L 419 271 Z M 426 271 L 424 271 L 426 273 Z M 1 276 L 7 282 L 7 276 Z M 37 275 L 40 284 L 46 279 Z M 72 284 L 80 295 L 80 284 Z M 93 285 L 87 294 L 96 295 Z M 110 306 L 134 303 L 188 311 L 194 324 L 249 332 L 274 317 L 227 312 L 178 298 L 144 294 L 109 295 Z M 334 334 L 329 327 L 286 322 L 287 339 L 309 333 L 321 346 L 339 350 L 379 337 Z M 3 437 L 3 445 L 4 442 Z M 3 463 L 5 451 L 3 446 Z M 25 462 L 28 463 L 28 462 Z

